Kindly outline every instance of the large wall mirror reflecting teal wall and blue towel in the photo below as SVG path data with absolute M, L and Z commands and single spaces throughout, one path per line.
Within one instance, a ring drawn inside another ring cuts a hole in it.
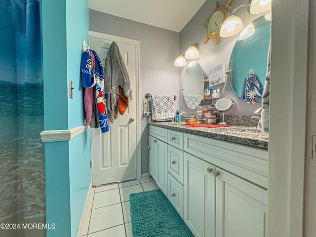
M 259 103 L 267 74 L 271 21 L 261 16 L 240 33 L 229 69 L 232 89 L 242 101 Z

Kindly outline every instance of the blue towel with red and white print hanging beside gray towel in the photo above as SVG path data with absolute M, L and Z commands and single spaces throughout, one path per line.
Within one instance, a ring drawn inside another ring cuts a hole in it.
M 95 61 L 95 68 L 92 68 L 91 65 L 91 56 L 90 52 L 93 53 L 92 61 Z M 101 60 L 99 55 L 94 50 L 86 50 L 82 53 L 81 56 L 81 78 L 82 85 L 84 88 L 90 88 L 95 86 L 95 94 L 92 99 L 92 109 L 93 104 L 96 104 L 96 109 L 98 111 L 99 124 L 102 132 L 109 131 L 108 115 L 107 115 L 107 106 L 106 98 L 103 92 L 104 90 L 104 73 Z M 91 94 L 91 91 L 89 91 Z M 91 101 L 87 99 L 86 101 Z M 95 103 L 94 103 L 95 102 Z M 86 110 L 86 109 L 85 109 Z M 86 110 L 87 111 L 87 110 Z M 90 111 L 90 108 L 89 108 Z M 90 113 L 90 112 L 89 112 Z M 91 115 L 92 117 L 92 115 Z M 91 119 L 90 119 L 91 120 Z

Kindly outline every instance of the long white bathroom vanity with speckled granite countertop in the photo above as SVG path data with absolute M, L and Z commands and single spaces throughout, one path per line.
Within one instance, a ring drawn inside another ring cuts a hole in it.
M 268 138 L 150 122 L 150 173 L 196 237 L 266 237 Z

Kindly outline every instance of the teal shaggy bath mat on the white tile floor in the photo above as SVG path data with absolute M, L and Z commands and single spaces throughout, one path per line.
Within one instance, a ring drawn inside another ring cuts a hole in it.
M 133 237 L 194 237 L 160 189 L 131 194 Z

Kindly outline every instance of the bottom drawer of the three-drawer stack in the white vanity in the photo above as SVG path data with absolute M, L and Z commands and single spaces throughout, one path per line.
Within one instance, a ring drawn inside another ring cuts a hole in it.
M 168 173 L 168 198 L 183 219 L 184 189 L 170 173 Z

